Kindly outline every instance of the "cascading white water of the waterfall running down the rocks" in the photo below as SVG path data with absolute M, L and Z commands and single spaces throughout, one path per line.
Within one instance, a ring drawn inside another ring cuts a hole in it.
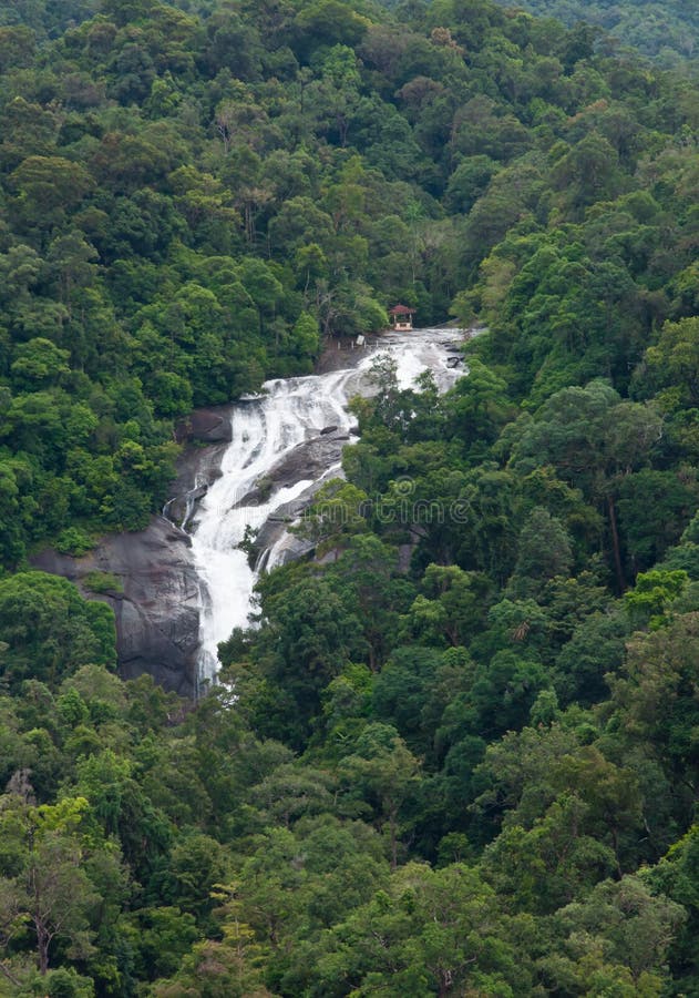
M 257 580 L 238 547 L 246 529 L 257 529 L 270 515 L 290 502 L 312 485 L 313 478 L 300 478 L 259 502 L 248 499 L 266 472 L 299 444 L 335 426 L 349 432 L 352 418 L 348 400 L 359 394 L 369 395 L 372 384 L 367 378 L 377 353 L 389 353 L 397 363 L 401 388 L 413 387 L 414 378 L 424 370 L 433 371 L 438 386 L 445 390 L 460 377 L 454 369 L 454 345 L 462 338 L 459 330 L 415 329 L 390 334 L 381 339 L 380 349 L 367 350 L 356 366 L 326 375 L 310 375 L 267 381 L 265 394 L 240 401 L 232 410 L 232 442 L 222 461 L 220 477 L 210 486 L 194 517 L 192 553 L 199 577 L 199 635 L 202 679 L 213 679 L 218 668 L 217 645 L 234 628 L 246 627 L 253 589 Z M 451 348 L 451 352 L 450 352 Z M 333 477 L 339 466 L 328 468 L 322 478 Z M 267 568 L 277 563 L 285 538 L 275 544 L 264 561 Z

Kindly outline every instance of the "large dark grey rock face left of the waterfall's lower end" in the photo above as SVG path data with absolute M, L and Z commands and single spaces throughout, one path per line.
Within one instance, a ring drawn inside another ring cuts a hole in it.
M 84 558 L 45 550 L 33 563 L 70 579 L 84 595 L 112 607 L 123 679 L 147 672 L 164 689 L 195 697 L 199 597 L 189 543 L 186 533 L 156 517 L 138 533 L 103 538 Z M 94 571 L 116 576 L 123 592 L 86 592 L 82 580 Z

